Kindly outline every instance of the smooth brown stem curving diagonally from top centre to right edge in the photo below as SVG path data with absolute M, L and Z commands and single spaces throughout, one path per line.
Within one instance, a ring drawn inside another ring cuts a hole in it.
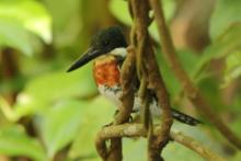
M 163 54 L 167 57 L 169 65 L 171 66 L 176 78 L 182 83 L 182 87 L 187 94 L 190 101 L 197 107 L 197 110 L 203 113 L 216 127 L 218 130 L 237 148 L 241 149 L 241 140 L 236 136 L 230 128 L 216 115 L 210 105 L 204 99 L 198 89 L 193 84 L 187 73 L 184 71 L 180 60 L 176 57 L 176 51 L 174 49 L 169 30 L 165 24 L 163 16 L 162 3 L 160 0 L 150 0 L 150 4 L 154 11 L 156 21 L 158 24 L 159 36 L 161 39 L 161 45 Z

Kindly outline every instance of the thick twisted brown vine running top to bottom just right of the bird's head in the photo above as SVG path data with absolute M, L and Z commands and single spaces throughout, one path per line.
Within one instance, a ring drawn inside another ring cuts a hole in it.
M 162 128 L 160 134 L 151 136 L 149 139 L 148 159 L 161 160 L 160 153 L 167 145 L 169 133 L 172 126 L 171 107 L 169 94 L 159 71 L 158 64 L 154 58 L 152 44 L 148 33 L 149 3 L 147 0 L 130 0 L 133 7 L 134 23 L 137 37 L 137 53 L 142 56 L 145 68 L 147 69 L 148 88 L 152 89 L 158 97 L 159 104 L 162 106 Z M 133 41 L 135 42 L 135 41 Z

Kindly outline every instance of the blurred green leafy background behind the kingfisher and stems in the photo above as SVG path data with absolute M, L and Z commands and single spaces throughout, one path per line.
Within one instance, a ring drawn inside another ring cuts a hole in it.
M 171 22 L 177 2 L 163 2 L 165 18 Z M 99 15 L 95 3 L 108 11 Z M 217 0 L 209 21 L 211 43 L 199 54 L 191 49 L 179 50 L 190 77 L 210 101 L 217 115 L 227 117 L 227 124 L 239 136 L 240 12 L 240 0 Z M 103 23 L 97 21 L 99 18 Z M 0 0 L 0 65 L 4 48 L 11 48 L 16 53 L 14 57 L 20 71 L 12 78 L 7 78 L 4 72 L 0 74 L 0 157 L 8 156 L 7 160 L 24 157 L 36 161 L 100 160 L 94 148 L 95 135 L 103 125 L 112 122 L 115 107 L 97 95 L 91 65 L 71 73 L 66 73 L 66 69 L 78 54 L 83 53 L 97 30 L 114 24 L 127 30 L 131 23 L 127 3 L 122 0 Z M 149 31 L 158 44 L 154 22 Z M 185 100 L 182 88 L 162 57 L 161 47 L 156 46 L 171 101 L 179 106 Z M 213 69 L 214 60 L 222 60 L 223 68 Z M 18 91 L 16 83 L 21 85 Z M 223 92 L 229 87 L 234 87 L 231 96 Z M 15 92 L 15 101 L 11 104 L 5 95 Z M 223 102 L 226 96 L 231 103 Z M 241 160 L 240 152 L 230 154 L 222 150 L 226 140 L 208 123 L 202 127 L 175 124 L 173 128 L 229 160 Z M 145 139 L 124 139 L 124 160 L 147 160 L 146 147 Z M 203 160 L 176 142 L 165 148 L 164 158 L 170 161 Z

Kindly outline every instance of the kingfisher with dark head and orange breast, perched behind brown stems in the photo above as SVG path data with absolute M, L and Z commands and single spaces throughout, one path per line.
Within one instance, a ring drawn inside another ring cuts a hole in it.
M 111 26 L 100 31 L 92 39 L 88 50 L 74 61 L 67 72 L 76 70 L 89 61 L 93 60 L 93 77 L 99 92 L 117 107 L 122 104 L 120 68 L 127 55 L 127 43 L 118 26 Z M 138 89 L 138 84 L 137 88 Z M 153 116 L 161 116 L 161 107 L 158 104 L 158 97 L 154 91 L 151 95 L 150 112 Z M 140 112 L 142 108 L 141 100 L 137 92 L 134 100 L 134 112 Z M 174 119 L 195 126 L 200 122 L 192 116 L 183 114 L 174 108 L 172 116 Z

